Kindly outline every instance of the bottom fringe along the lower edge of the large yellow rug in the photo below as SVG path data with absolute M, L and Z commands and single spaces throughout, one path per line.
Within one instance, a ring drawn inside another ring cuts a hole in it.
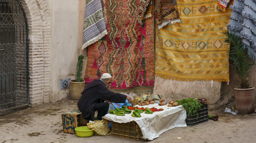
M 204 80 L 204 81 L 218 81 L 218 82 L 228 82 L 229 79 L 215 79 L 215 78 L 209 78 L 209 79 L 205 79 L 205 78 L 181 78 L 181 77 L 175 77 L 175 76 L 170 76 L 170 75 L 163 75 L 163 74 L 157 74 L 156 76 L 164 78 L 164 79 L 171 79 L 171 80 L 177 80 L 177 81 L 200 81 L 200 80 Z

